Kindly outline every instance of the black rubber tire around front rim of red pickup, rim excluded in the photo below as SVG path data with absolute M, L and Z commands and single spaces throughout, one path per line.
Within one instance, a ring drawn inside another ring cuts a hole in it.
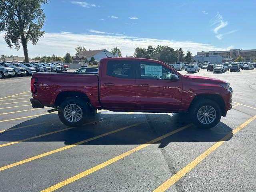
M 198 120 L 198 110 L 200 110 L 201 107 L 203 106 L 211 106 L 214 108 L 216 111 L 216 118 L 209 124 L 204 124 Z M 221 118 L 221 109 L 220 106 L 210 100 L 210 99 L 202 99 L 202 100 L 197 100 L 194 104 L 192 104 L 190 110 L 189 110 L 190 117 L 192 118 L 192 122 L 198 127 L 198 128 L 205 128 L 205 129 L 210 129 L 218 124 L 220 122 Z

